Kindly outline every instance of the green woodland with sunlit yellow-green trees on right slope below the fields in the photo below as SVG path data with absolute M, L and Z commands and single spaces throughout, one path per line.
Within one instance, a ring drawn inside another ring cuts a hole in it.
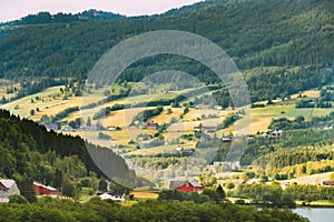
M 331 150 L 326 149 L 326 145 L 332 143 L 333 130 L 307 129 L 284 131 L 283 135 L 277 139 L 259 135 L 254 140 L 248 140 L 240 164 L 249 165 L 254 163 L 256 167 L 265 169 L 268 168 L 268 163 L 271 163 L 273 168 L 278 168 L 278 162 L 281 162 L 279 165 L 282 167 L 288 162 L 291 162 L 289 164 L 297 164 L 305 161 L 325 160 L 327 157 L 333 155 Z M 312 149 L 311 147 L 314 148 Z M 323 147 L 324 150 L 317 149 L 321 147 Z M 224 154 L 228 149 L 227 144 L 220 144 L 215 161 L 223 161 L 225 158 Z M 325 157 L 323 157 L 323 154 Z

